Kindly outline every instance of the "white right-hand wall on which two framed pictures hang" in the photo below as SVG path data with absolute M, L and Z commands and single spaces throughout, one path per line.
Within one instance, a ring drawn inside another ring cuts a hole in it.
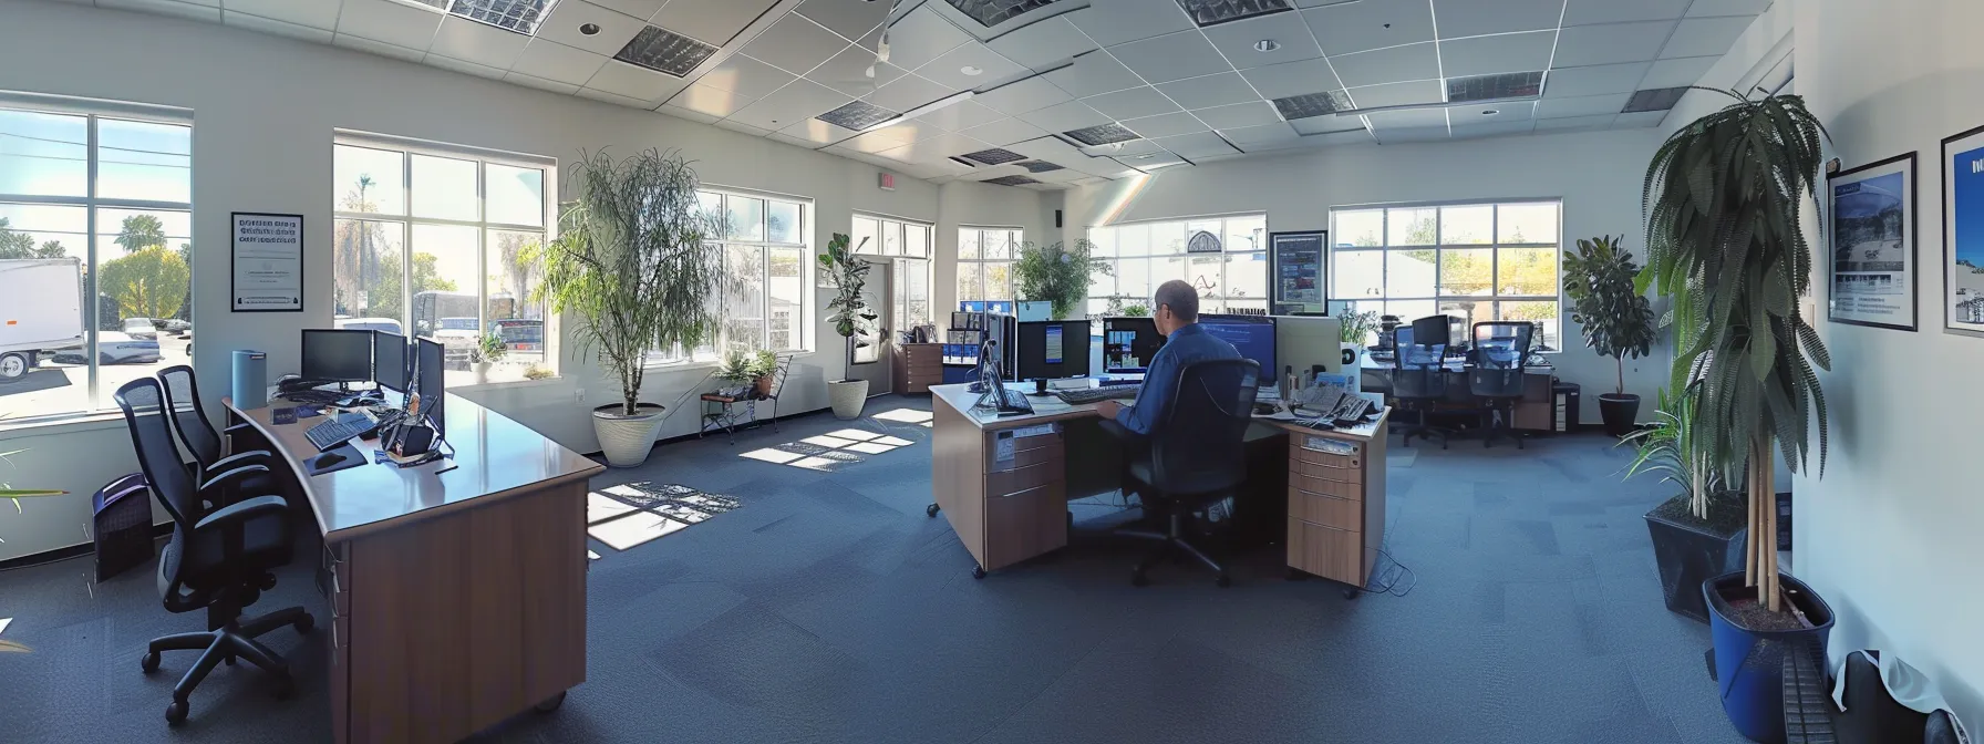
M 1780 6 L 1784 0 L 1780 0 Z M 1796 567 L 1839 613 L 1831 649 L 1887 649 L 1984 724 L 1984 492 L 1970 395 L 1984 339 L 1942 333 L 1942 137 L 1984 125 L 1984 4 L 1799 0 L 1798 93 L 1845 167 L 1917 153 L 1917 333 L 1819 321 L 1833 371 L 1823 476 L 1794 482 Z M 1823 246 L 1823 242 L 1813 242 Z M 1817 250 L 1825 256 L 1823 250 Z M 1825 270 L 1813 278 L 1825 308 Z

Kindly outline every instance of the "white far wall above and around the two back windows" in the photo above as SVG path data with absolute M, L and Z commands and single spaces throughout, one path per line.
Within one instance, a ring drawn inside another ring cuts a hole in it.
M 1135 222 L 1222 212 L 1268 212 L 1270 232 L 1327 230 L 1333 206 L 1548 196 L 1563 200 L 1567 246 L 1575 246 L 1575 238 L 1625 234 L 1625 246 L 1645 260 L 1639 190 L 1659 143 L 1657 129 L 1629 129 L 1339 145 L 1305 155 L 1177 167 L 1143 181 L 1067 192 L 1065 232 L 1069 240 L 1079 238 L 1111 216 Z M 1553 357 L 1557 377 L 1583 385 L 1579 415 L 1597 423 L 1597 397 L 1617 387 L 1617 367 L 1579 341 L 1569 311 L 1563 313 L 1563 337 L 1567 349 Z M 1653 357 L 1627 359 L 1627 393 L 1643 399 L 1641 419 L 1653 417 L 1669 359 L 1665 343 Z

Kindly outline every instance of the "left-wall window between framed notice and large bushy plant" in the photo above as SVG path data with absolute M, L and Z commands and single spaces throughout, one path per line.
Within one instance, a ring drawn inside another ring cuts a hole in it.
M 550 159 L 339 135 L 331 155 L 339 327 L 399 327 L 446 347 L 470 385 L 482 335 L 504 355 L 488 381 L 556 371 L 530 260 L 552 224 Z

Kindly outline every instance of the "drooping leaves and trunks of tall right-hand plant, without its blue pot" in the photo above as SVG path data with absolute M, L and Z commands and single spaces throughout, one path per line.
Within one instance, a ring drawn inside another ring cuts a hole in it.
M 1676 131 L 1647 167 L 1649 274 L 1674 298 L 1663 323 L 1678 329 L 1673 387 L 1700 381 L 1696 427 L 1722 472 L 1746 472 L 1746 583 L 1780 611 L 1774 448 L 1796 472 L 1817 419 L 1825 466 L 1831 355 L 1798 298 L 1811 290 L 1811 246 L 1799 220 L 1817 206 L 1825 127 L 1798 95 L 1736 99 Z

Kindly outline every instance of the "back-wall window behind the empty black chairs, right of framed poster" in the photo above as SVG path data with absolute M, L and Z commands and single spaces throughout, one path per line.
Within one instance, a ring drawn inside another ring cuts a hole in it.
M 1403 321 L 1526 319 L 1557 341 L 1559 202 L 1331 210 L 1329 300 Z

